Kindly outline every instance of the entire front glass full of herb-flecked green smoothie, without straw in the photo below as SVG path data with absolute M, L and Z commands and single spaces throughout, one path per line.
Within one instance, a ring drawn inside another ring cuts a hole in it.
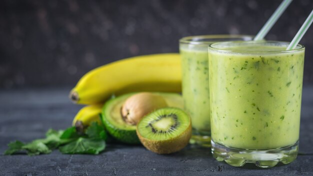
M 272 167 L 297 156 L 304 46 L 218 42 L 208 47 L 212 154 Z

